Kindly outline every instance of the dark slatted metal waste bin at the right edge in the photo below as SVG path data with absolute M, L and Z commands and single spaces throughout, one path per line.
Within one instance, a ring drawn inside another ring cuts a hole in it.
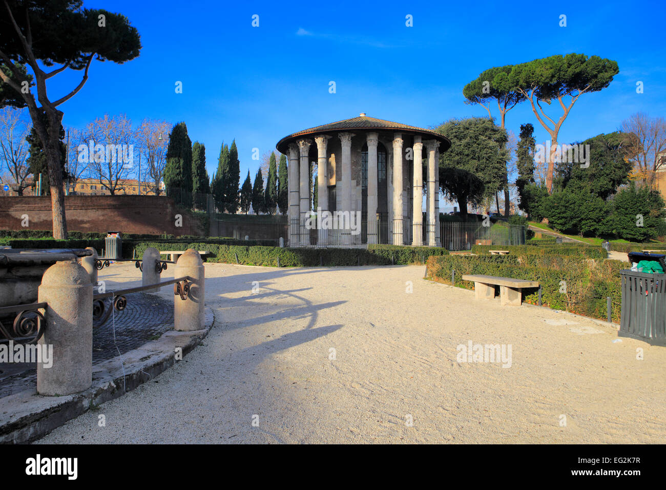
M 666 345 L 666 273 L 627 269 L 620 271 L 620 281 L 622 309 L 618 335 Z

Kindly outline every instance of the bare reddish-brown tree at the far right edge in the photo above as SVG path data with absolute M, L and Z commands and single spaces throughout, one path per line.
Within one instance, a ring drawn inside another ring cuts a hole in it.
M 639 112 L 622 121 L 627 159 L 633 162 L 633 175 L 652 188 L 657 171 L 666 169 L 666 119 Z

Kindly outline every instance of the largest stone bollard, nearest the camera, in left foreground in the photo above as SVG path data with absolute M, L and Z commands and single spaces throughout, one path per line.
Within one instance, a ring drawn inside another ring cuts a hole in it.
M 37 393 L 71 395 L 93 384 L 93 285 L 75 261 L 46 270 L 37 301 L 49 303 L 40 345 L 53 345 L 53 365 L 37 363 Z

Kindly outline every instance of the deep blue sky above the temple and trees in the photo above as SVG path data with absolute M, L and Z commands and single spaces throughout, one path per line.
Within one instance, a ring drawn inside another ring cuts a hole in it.
M 127 113 L 135 125 L 145 117 L 185 121 L 192 141 L 206 145 L 210 175 L 222 141 L 235 138 L 242 180 L 248 169 L 254 178 L 259 165 L 252 148 L 272 151 L 289 133 L 361 112 L 421 127 L 485 116 L 462 95 L 484 69 L 585 53 L 617 61 L 620 73 L 607 89 L 583 95 L 563 124 L 560 143 L 582 141 L 615 131 L 637 111 L 665 115 L 665 5 L 85 1 L 126 15 L 143 49 L 123 65 L 93 62 L 85 87 L 61 109 L 65 125 L 74 127 L 104 113 Z M 251 25 L 254 14 L 259 27 Z M 405 25 L 408 14 L 414 27 Z M 559 27 L 561 14 L 567 27 Z M 58 75 L 51 99 L 80 77 L 71 70 Z M 537 143 L 545 141 L 529 103 L 507 114 L 506 127 L 518 133 L 528 122 Z

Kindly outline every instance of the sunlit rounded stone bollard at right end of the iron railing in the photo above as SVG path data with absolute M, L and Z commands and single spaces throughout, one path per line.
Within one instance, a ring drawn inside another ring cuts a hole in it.
M 201 255 L 194 249 L 187 249 L 180 255 L 176 263 L 174 277 L 188 275 L 194 279 L 190 283 L 190 291 L 186 299 L 174 295 L 173 317 L 174 328 L 179 331 L 200 330 L 204 328 L 204 265 Z

